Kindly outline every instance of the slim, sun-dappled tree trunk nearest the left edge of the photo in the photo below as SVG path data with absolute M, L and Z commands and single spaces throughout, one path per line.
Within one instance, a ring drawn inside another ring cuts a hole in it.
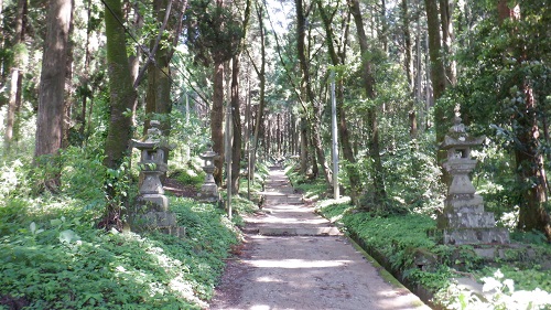
M 4 131 L 4 154 L 11 153 L 12 140 L 18 136 L 15 119 L 18 110 L 21 106 L 21 79 L 23 77 L 25 53 L 24 35 L 25 35 L 25 15 L 26 15 L 26 0 L 19 0 L 15 15 L 15 25 L 13 29 L 13 40 L 11 42 L 13 49 L 13 61 L 9 68 L 10 71 L 10 90 L 8 98 L 8 111 L 6 115 L 6 131 Z

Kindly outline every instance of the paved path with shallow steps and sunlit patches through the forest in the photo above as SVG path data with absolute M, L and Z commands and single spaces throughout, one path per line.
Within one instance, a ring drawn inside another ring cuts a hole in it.
M 245 246 L 228 261 L 210 309 L 430 309 L 302 203 L 281 168 L 270 171 L 262 211 L 245 218 Z

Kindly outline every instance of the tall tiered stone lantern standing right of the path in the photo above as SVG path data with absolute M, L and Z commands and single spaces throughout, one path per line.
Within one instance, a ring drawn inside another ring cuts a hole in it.
M 447 151 L 443 164 L 452 182 L 444 201 L 444 211 L 437 226 L 444 232 L 444 244 L 508 244 L 509 232 L 497 228 L 494 214 L 484 211 L 484 201 L 477 195 L 469 173 L 476 167 L 471 149 L 482 145 L 484 137 L 471 137 L 456 113 L 454 126 L 444 138 L 441 148 Z

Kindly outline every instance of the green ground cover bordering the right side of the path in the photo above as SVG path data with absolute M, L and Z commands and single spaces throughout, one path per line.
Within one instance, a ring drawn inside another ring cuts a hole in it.
M 325 217 L 343 224 L 348 234 L 380 254 L 382 259 L 393 270 L 400 270 L 410 284 L 421 285 L 436 292 L 433 301 L 445 306 L 446 309 L 509 309 L 503 308 L 504 302 L 518 304 L 530 301 L 532 308 L 518 309 L 547 309 L 536 307 L 538 302 L 545 300 L 551 304 L 549 264 L 540 264 L 548 260 L 551 247 L 542 243 L 544 236 L 540 234 L 536 236 L 525 233 L 516 237 L 518 240 L 533 239 L 536 243 L 529 245 L 532 254 L 527 256 L 525 248 L 506 250 L 505 260 L 498 259 L 489 267 L 486 260 L 476 255 L 473 246 L 441 245 L 432 236 L 429 237 L 428 232 L 435 231 L 435 221 L 426 214 L 381 217 L 376 216 L 376 213 L 358 212 L 350 205 L 329 200 L 320 201 L 317 205 Z M 421 264 L 428 261 L 429 265 L 418 265 L 420 257 L 424 258 Z M 517 263 L 507 259 L 516 259 Z M 505 277 L 495 276 L 498 268 Z M 491 289 L 497 290 L 497 293 L 491 299 L 480 299 L 473 291 L 454 284 L 453 278 L 457 277 L 457 274 L 476 276 L 486 284 L 488 290 L 491 285 Z M 517 290 L 510 289 L 512 284 Z

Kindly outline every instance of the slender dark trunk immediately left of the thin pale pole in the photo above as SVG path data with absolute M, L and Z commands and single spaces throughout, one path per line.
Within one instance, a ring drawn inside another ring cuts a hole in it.
M 295 0 L 296 9 L 296 51 L 299 54 L 299 62 L 301 66 L 301 89 L 306 93 L 306 101 L 312 105 L 312 118 L 310 121 L 310 128 L 312 133 L 312 146 L 314 147 L 315 154 L 317 157 L 318 163 L 322 165 L 323 175 L 328 188 L 332 185 L 332 172 L 325 160 L 325 153 L 322 146 L 322 135 L 321 135 L 321 107 L 320 103 L 315 99 L 314 92 L 312 90 L 312 84 L 310 78 L 310 66 L 306 60 L 306 49 L 304 44 L 305 40 L 305 26 L 306 18 L 303 10 L 303 0 Z M 316 168 L 316 167 L 314 167 Z

